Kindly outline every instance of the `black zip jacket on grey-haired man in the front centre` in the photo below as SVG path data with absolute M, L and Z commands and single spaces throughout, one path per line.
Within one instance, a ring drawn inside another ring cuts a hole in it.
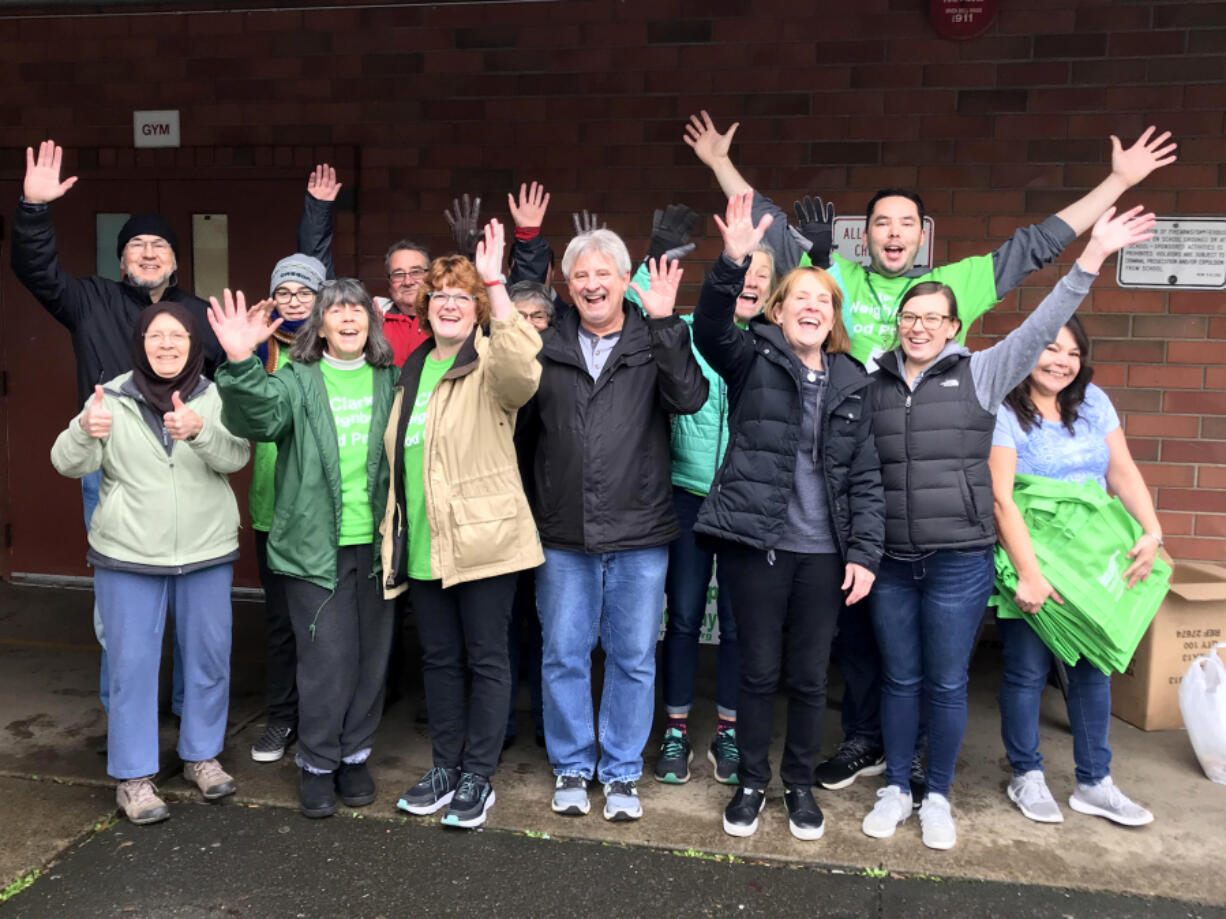
M 706 377 L 680 319 L 645 319 L 629 300 L 623 310 L 622 337 L 596 380 L 579 350 L 577 310 L 541 335 L 541 386 L 520 436 L 536 445 L 532 510 L 550 549 L 647 549 L 680 533 L 668 415 L 698 412 Z

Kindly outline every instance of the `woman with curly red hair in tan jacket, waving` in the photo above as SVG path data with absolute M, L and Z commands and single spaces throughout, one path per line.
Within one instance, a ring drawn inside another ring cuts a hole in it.
M 490 221 L 476 266 L 430 265 L 417 311 L 432 338 L 405 361 L 386 434 L 385 596 L 407 586 L 413 600 L 434 746 L 397 806 L 450 805 L 443 822 L 460 827 L 481 826 L 494 803 L 516 572 L 544 561 L 511 441 L 541 377 L 541 336 L 506 295 L 503 248 Z

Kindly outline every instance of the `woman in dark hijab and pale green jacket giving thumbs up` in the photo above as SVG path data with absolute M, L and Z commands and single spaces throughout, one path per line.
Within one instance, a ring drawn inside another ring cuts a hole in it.
M 94 387 L 55 440 L 64 475 L 102 471 L 87 559 L 107 635 L 107 772 L 134 823 L 169 816 L 158 772 L 158 664 L 168 600 L 184 667 L 179 756 L 206 800 L 234 793 L 217 762 L 229 709 L 230 581 L 238 502 L 228 474 L 250 456 L 221 423 L 217 388 L 186 308 L 158 303 L 136 321 L 132 370 Z

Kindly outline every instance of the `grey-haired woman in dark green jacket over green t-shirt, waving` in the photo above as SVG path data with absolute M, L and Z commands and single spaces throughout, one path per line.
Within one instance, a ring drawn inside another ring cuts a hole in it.
M 383 717 L 391 604 L 383 599 L 375 524 L 387 496 L 383 436 L 396 369 L 360 282 L 324 286 L 268 374 L 254 352 L 282 323 L 242 293 L 213 300 L 228 358 L 222 417 L 277 445 L 268 569 L 282 576 L 298 654 L 299 805 L 308 817 L 375 799 L 367 757 Z

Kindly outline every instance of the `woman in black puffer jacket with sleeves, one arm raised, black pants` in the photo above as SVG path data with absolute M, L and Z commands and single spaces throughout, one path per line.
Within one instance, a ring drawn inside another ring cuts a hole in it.
M 787 740 L 780 766 L 792 834 L 825 826 L 813 800 L 826 664 L 840 607 L 868 593 L 881 556 L 885 505 L 868 376 L 848 354 L 841 292 L 797 268 L 742 331 L 733 322 L 747 254 L 770 225 L 753 192 L 729 200 L 723 255 L 694 316 L 699 352 L 728 385 L 731 440 L 695 533 L 718 538 L 741 637 L 741 787 L 723 815 L 732 836 L 758 828 L 770 782 L 774 695 L 786 659 Z M 846 592 L 846 593 L 845 593 Z M 785 643 L 783 636 L 787 635 Z

